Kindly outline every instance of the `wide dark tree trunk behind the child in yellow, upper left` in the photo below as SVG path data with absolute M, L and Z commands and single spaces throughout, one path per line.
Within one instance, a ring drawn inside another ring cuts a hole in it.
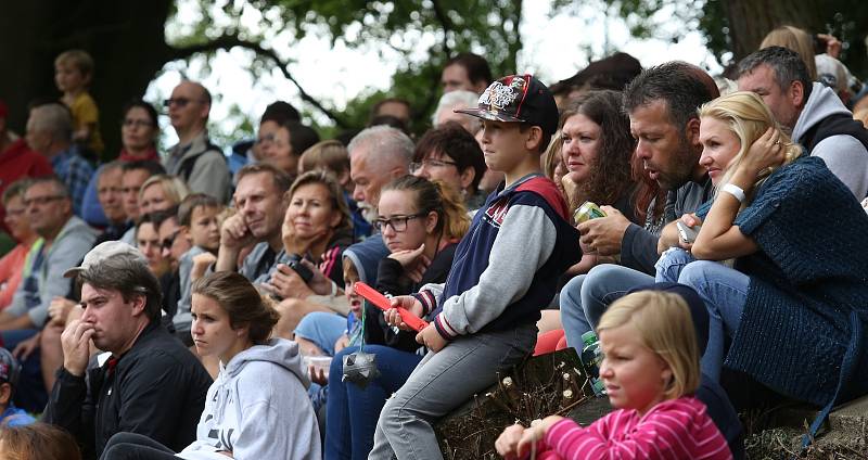
M 95 71 L 90 93 L 100 108 L 100 127 L 111 158 L 120 150 L 122 110 L 144 94 L 170 59 L 164 27 L 171 0 L 5 1 L 0 15 L 0 99 L 9 105 L 11 129 L 24 132 L 27 104 L 56 99 L 54 58 L 79 48 Z

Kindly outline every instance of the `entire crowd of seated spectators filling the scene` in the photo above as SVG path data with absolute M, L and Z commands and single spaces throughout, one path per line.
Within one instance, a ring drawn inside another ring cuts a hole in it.
M 437 420 L 597 332 L 616 411 L 484 449 L 744 458 L 750 388 L 819 420 L 868 393 L 868 90 L 838 53 L 786 26 L 726 76 L 616 53 L 550 87 L 461 53 L 430 120 L 387 98 L 321 140 L 277 101 L 227 156 L 190 80 L 176 145 L 135 100 L 106 151 L 66 51 L 26 133 L 0 102 L 0 452 L 441 458 Z

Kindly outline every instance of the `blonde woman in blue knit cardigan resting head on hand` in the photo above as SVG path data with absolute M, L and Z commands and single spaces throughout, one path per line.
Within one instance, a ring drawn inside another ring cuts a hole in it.
M 700 163 L 717 193 L 664 229 L 658 281 L 695 289 L 711 316 L 703 372 L 745 372 L 818 406 L 868 393 L 868 216 L 751 92 L 700 108 Z M 689 251 L 689 252 L 688 252 Z M 731 340 L 729 349 L 725 342 Z

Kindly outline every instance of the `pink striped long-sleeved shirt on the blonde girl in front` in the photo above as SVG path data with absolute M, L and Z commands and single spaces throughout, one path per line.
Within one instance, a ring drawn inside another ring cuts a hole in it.
M 663 401 L 639 417 L 616 410 L 587 429 L 572 420 L 546 433 L 548 449 L 539 459 L 731 459 L 726 439 L 705 405 L 685 396 Z

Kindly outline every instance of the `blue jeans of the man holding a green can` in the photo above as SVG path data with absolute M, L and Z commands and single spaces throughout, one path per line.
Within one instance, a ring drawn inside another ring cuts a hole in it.
M 593 330 L 605 308 L 627 291 L 654 280 L 641 271 L 614 264 L 598 265 L 573 278 L 561 290 L 561 322 L 566 344 L 583 347 L 582 334 Z

